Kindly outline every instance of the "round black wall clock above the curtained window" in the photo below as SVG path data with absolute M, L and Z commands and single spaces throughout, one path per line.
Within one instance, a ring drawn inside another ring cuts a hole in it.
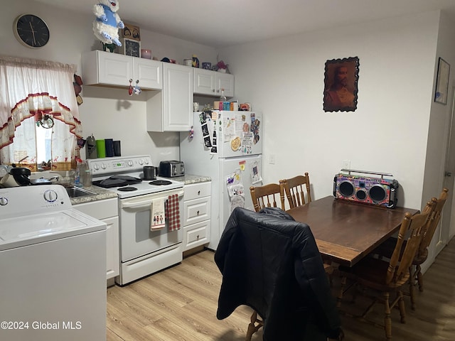
M 21 14 L 14 21 L 14 35 L 28 48 L 42 48 L 49 41 L 48 25 L 38 16 Z

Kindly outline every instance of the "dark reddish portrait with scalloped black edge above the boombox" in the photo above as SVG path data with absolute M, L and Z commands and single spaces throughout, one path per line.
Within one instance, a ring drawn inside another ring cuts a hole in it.
M 324 112 L 354 112 L 357 109 L 358 58 L 326 61 L 324 72 Z

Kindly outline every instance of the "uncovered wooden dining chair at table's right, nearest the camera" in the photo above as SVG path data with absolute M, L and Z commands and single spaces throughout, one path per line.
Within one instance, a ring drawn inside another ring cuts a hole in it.
M 367 292 L 365 288 L 369 288 L 376 293 L 382 293 L 382 296 L 368 296 L 373 299 L 373 302 L 365 309 L 362 315 L 356 317 L 365 322 L 377 325 L 373 321 L 368 320 L 366 316 L 373 309 L 375 303 L 384 303 L 384 325 L 382 327 L 385 330 L 387 340 L 392 340 L 392 319 L 390 318 L 392 308 L 400 309 L 401 323 L 405 323 L 406 310 L 402 287 L 410 281 L 410 266 L 417 254 L 420 242 L 422 242 L 425 224 L 427 224 L 433 210 L 434 202 L 429 202 L 420 214 L 411 215 L 409 212 L 405 213 L 400 226 L 397 244 L 395 245 L 390 261 L 375 257 L 365 257 L 353 267 L 338 267 L 337 271 L 341 276 L 341 288 L 338 293 L 339 306 L 341 306 L 341 300 L 344 295 L 346 278 L 356 284 L 355 288 L 362 288 L 359 291 L 360 294 Z M 406 239 L 406 243 L 405 236 L 409 236 Z M 396 294 L 392 302 L 390 302 L 390 293 Z

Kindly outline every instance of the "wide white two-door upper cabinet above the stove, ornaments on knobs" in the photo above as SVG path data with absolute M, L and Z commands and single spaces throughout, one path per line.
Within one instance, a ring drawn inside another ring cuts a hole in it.
M 85 85 L 138 85 L 142 90 L 161 90 L 162 62 L 95 50 L 82 55 Z M 139 80 L 139 82 L 137 82 Z

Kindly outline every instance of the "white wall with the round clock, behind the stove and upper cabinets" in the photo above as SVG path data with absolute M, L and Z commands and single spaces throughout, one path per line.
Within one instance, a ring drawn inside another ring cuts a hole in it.
M 21 13 L 35 13 L 48 23 L 50 41 L 44 48 L 26 48 L 14 37 L 14 19 Z M 122 17 L 122 9 L 119 15 Z M 78 75 L 82 75 L 81 54 L 102 49 L 92 32 L 94 18 L 54 9 L 36 1 L 11 1 L 2 7 L 0 13 L 0 53 L 75 64 Z M 122 17 L 122 20 L 129 22 L 128 18 Z M 140 24 L 138 26 L 140 28 Z M 184 58 L 191 58 L 195 53 L 201 62 L 216 63 L 217 53 L 213 48 L 150 31 L 141 30 L 141 47 L 151 49 L 159 60 L 168 57 L 183 64 Z M 81 95 L 84 103 L 79 112 L 84 137 L 94 134 L 97 139 L 121 140 L 123 155 L 151 154 L 154 163 L 179 157 L 178 133 L 146 131 L 146 94 L 129 97 L 127 90 L 82 86 Z M 82 151 L 84 156 L 85 151 Z

